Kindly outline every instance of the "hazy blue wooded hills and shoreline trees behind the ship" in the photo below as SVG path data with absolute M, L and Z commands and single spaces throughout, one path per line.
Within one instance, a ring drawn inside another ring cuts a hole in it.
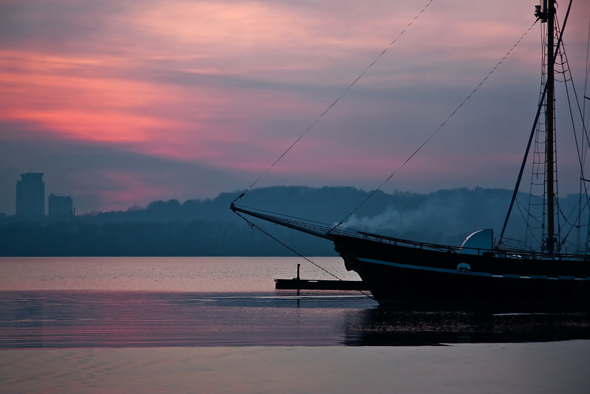
M 345 219 L 370 192 L 352 187 L 268 187 L 249 191 L 237 204 L 316 222 Z M 205 200 L 153 201 L 126 211 L 95 212 L 71 222 L 0 223 L 1 256 L 291 256 L 291 250 L 230 210 L 241 191 Z M 345 221 L 359 230 L 424 242 L 460 245 L 467 235 L 501 228 L 511 192 L 466 188 L 430 194 L 376 193 Z M 527 196 L 522 196 L 526 200 Z M 570 201 L 571 200 L 571 201 Z M 573 206 L 576 198 L 560 200 Z M 307 256 L 335 255 L 333 245 L 276 224 L 257 226 Z M 510 226 L 507 236 L 522 230 Z

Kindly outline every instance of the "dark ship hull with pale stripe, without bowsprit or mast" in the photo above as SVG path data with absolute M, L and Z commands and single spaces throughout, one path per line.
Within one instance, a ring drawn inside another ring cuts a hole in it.
M 516 255 L 371 236 L 332 235 L 346 268 L 359 274 L 380 305 L 399 307 L 587 310 L 587 256 Z M 448 248 L 447 251 L 444 249 Z

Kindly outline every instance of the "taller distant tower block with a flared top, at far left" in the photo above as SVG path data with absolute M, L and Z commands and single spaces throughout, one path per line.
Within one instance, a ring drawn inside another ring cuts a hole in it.
M 42 172 L 21 174 L 17 181 L 17 217 L 41 219 L 45 216 L 45 182 Z

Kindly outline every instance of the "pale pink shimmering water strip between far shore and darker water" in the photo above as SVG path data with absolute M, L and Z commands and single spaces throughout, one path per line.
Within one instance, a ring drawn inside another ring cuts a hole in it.
M 358 280 L 339 258 L 314 262 L 344 280 Z M 0 258 L 0 290 L 270 292 L 275 278 L 335 279 L 300 258 L 83 257 Z

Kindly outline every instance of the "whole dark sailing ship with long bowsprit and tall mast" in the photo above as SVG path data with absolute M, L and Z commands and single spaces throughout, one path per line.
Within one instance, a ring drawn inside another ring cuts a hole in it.
M 555 222 L 559 206 L 555 190 L 554 67 L 558 53 L 562 50 L 561 35 L 555 24 L 555 0 L 543 0 L 542 5 L 536 6 L 535 16 L 545 24 L 547 41 L 546 78 L 533 125 L 534 132 L 539 129 L 537 123 L 543 123 L 543 133 L 546 135 L 543 141 L 545 211 L 540 248 L 508 246 L 504 239 L 508 219 L 504 222 L 500 237 L 496 239 L 493 230 L 485 229 L 468 236 L 460 246 L 448 246 L 304 222 L 234 203 L 231 209 L 238 214 L 258 217 L 330 240 L 343 258 L 346 269 L 359 274 L 380 305 L 501 306 L 514 310 L 536 307 L 555 307 L 560 310 L 590 308 L 588 247 L 585 246 L 585 250 L 579 248 L 573 253 L 562 253 L 565 237 L 559 234 L 559 226 Z M 543 112 L 544 122 L 537 122 Z M 507 217 L 514 205 L 528 151 L 527 148 Z M 581 179 L 590 183 L 583 177 Z M 588 204 L 586 201 L 583 204 Z

